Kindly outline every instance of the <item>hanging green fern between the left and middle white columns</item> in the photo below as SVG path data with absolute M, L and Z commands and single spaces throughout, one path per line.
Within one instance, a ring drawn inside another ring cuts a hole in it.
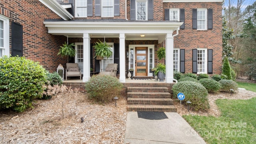
M 106 58 L 109 58 L 110 56 L 112 56 L 112 50 L 106 42 L 101 42 L 101 41 L 95 42 L 95 46 L 93 46 L 93 48 L 95 48 L 94 58 L 96 56 L 106 57 Z

